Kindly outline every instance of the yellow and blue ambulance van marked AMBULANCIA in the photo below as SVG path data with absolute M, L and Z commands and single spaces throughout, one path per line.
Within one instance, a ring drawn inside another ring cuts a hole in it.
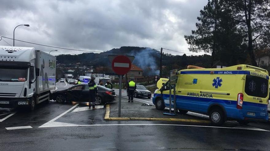
M 267 70 L 250 65 L 222 69 L 188 66 L 176 76 L 176 108 L 180 113 L 207 114 L 214 125 L 222 125 L 226 120 L 241 124 L 268 121 Z M 169 106 L 169 80 L 159 80 L 157 87 L 152 102 L 156 109 L 164 110 Z

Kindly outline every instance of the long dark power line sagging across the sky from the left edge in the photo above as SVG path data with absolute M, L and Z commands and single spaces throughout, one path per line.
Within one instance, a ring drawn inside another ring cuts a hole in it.
M 7 38 L 7 39 L 13 39 L 13 38 L 8 38 L 8 37 L 4 37 L 1 36 L 1 39 L 3 38 Z M 14 39 L 16 41 L 21 41 L 21 42 L 25 42 L 25 43 L 29 43 L 29 44 L 34 44 L 34 45 L 41 45 L 41 46 L 45 46 L 45 47 L 51 47 L 51 48 L 58 48 L 58 49 L 65 49 L 65 50 L 74 50 L 74 51 L 82 51 L 82 52 L 100 52 L 100 53 L 129 53 L 129 52 L 104 52 L 104 51 L 89 51 L 89 50 L 79 50 L 79 49 L 69 49 L 69 48 L 62 48 L 62 47 L 55 47 L 55 46 L 49 46 L 49 45 L 42 45 L 42 44 L 37 44 L 37 43 L 33 43 L 33 42 L 28 42 L 28 41 L 22 41 L 22 40 L 17 40 Z M 5 40 L 4 40 L 5 41 Z M 143 51 L 138 51 L 138 52 L 147 52 L 147 51 L 153 51 L 153 50 L 159 50 L 159 49 L 151 49 L 151 50 L 143 50 Z M 133 51 L 135 52 L 135 51 Z

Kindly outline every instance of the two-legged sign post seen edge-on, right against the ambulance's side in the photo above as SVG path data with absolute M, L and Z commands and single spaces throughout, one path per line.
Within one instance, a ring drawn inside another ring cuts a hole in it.
M 169 113 L 163 113 L 164 115 L 176 115 L 176 82 L 177 82 L 177 70 L 170 71 L 170 81 L 169 81 Z M 172 113 L 172 87 L 173 87 L 173 111 Z

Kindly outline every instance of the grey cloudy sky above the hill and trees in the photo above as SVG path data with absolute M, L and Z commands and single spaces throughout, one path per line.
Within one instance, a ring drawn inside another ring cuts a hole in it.
M 196 17 L 206 3 L 207 0 L 1 0 L 0 36 L 13 38 L 14 27 L 30 24 L 17 27 L 15 39 L 98 52 L 139 46 L 193 53 L 187 51 L 183 37 L 195 29 Z M 13 40 L 3 39 L 13 45 Z M 1 40 L 0 45 L 8 44 Z M 18 41 L 15 46 L 54 50 Z M 78 53 L 82 52 L 52 52 Z

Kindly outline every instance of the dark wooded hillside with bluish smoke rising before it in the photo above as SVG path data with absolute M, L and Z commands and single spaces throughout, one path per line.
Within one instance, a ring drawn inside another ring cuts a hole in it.
M 102 53 L 83 53 L 79 55 L 59 55 L 56 56 L 58 63 L 81 63 L 81 65 L 94 67 L 110 67 L 108 55 L 130 55 L 135 56 L 133 64 L 141 67 L 144 75 L 159 74 L 160 52 L 155 49 L 146 47 L 131 47 L 123 46 L 114 48 Z M 164 74 L 167 74 L 170 69 L 185 69 L 187 65 L 197 65 L 202 67 L 210 67 L 210 56 L 186 56 L 185 54 L 171 55 L 163 54 L 162 65 L 167 66 L 164 69 Z

